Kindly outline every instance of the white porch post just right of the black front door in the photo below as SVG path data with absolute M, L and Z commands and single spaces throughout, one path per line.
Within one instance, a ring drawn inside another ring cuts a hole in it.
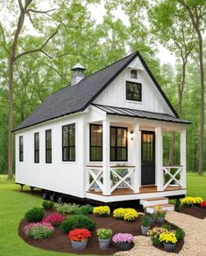
M 163 177 L 163 160 L 162 160 L 162 128 L 156 128 L 156 143 L 155 143 L 155 177 L 157 190 L 163 190 L 164 177 Z

